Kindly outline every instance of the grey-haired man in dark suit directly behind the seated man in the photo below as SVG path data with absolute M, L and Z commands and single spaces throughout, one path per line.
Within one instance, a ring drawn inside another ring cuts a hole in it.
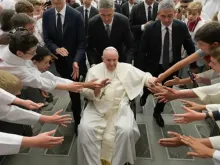
M 112 0 L 99 3 L 99 15 L 89 21 L 87 55 L 90 65 L 102 62 L 102 52 L 113 46 L 119 52 L 119 61 L 131 62 L 132 33 L 128 18 L 114 12 Z

